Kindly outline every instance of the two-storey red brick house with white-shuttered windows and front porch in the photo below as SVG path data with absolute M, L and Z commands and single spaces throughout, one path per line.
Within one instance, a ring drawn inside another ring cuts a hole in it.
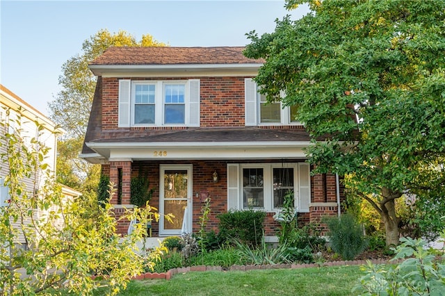
M 337 215 L 343 190 L 333 174 L 310 176 L 310 138 L 295 110 L 258 93 L 252 77 L 262 62 L 243 47 L 111 47 L 90 63 L 97 87 L 81 157 L 115 183 L 118 215 L 141 172 L 150 204 L 176 217 L 153 224 L 154 236 L 179 235 L 183 222 L 197 231 L 206 197 L 209 229 L 218 213 L 254 208 L 266 211 L 274 236 L 289 190 L 300 221 Z

